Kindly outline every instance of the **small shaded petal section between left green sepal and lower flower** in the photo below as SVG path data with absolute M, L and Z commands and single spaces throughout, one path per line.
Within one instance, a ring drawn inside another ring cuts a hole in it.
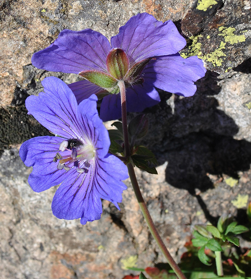
M 96 94 L 99 91 L 103 90 L 100 86 L 95 85 L 88 80 L 81 80 L 68 84 L 69 88 L 74 93 L 77 103 L 79 104 L 82 100 L 89 98 L 92 94 Z

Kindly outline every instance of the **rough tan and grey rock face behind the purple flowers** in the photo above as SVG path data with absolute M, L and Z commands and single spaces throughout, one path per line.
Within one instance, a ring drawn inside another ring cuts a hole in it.
M 221 6 L 208 15 L 201 29 L 197 30 L 193 21 L 189 26 L 186 23 L 187 32 L 206 34 L 209 17 L 214 18 L 230 5 L 229 1 L 216 2 Z M 241 2 L 249 7 L 250 1 Z M 1 2 L 1 278 L 120 279 L 130 273 L 124 269 L 128 265 L 145 268 L 165 262 L 148 232 L 129 181 L 121 211 L 103 201 L 98 221 L 82 226 L 79 220 L 59 220 L 50 208 L 56 187 L 43 193 L 31 190 L 27 182 L 31 168 L 22 163 L 18 148 L 30 137 L 49 134 L 26 114 L 26 96 L 42 91 L 40 82 L 46 76 L 57 76 L 67 83 L 78 79 L 73 74 L 35 69 L 30 64 L 35 51 L 48 46 L 64 28 L 92 28 L 109 38 L 130 16 L 145 11 L 158 20 L 172 19 L 184 30 L 187 15 L 193 12 L 192 6 L 188 9 L 189 3 Z M 226 17 L 230 26 L 228 20 Z M 236 44 L 237 52 L 242 44 Z M 248 55 L 234 60 L 230 48 L 225 51 L 229 61 L 234 61 L 234 69 L 224 73 L 223 63 L 217 68 L 220 74 L 208 71 L 197 82 L 193 97 L 160 91 L 160 104 L 145 111 L 150 129 L 142 144 L 156 154 L 159 175 L 140 170 L 136 174 L 152 218 L 176 260 L 186 251 L 184 243 L 194 224 L 214 224 L 224 212 L 242 222 L 251 197 L 251 60 Z M 234 186 L 229 179 L 236 179 Z M 250 248 L 250 242 L 245 245 Z

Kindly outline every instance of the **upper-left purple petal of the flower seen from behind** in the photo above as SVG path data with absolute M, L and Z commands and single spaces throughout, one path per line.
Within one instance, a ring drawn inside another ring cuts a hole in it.
M 53 72 L 80 73 L 84 70 L 106 72 L 106 56 L 111 50 L 108 39 L 91 29 L 61 31 L 49 47 L 36 52 L 32 64 Z

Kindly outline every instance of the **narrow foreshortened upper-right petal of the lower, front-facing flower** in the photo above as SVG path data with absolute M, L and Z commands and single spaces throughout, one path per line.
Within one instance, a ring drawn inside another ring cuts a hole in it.
M 80 123 L 83 134 L 89 137 L 92 145 L 95 146 L 99 158 L 104 158 L 110 147 L 110 139 L 102 120 L 97 111 L 97 96 L 92 95 L 78 105 Z

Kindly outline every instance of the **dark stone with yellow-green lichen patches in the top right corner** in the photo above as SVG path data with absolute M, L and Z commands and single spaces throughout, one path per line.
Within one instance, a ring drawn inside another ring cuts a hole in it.
M 189 37 L 183 57 L 197 55 L 211 71 L 230 71 L 251 57 L 250 22 L 250 0 L 194 0 L 181 21 Z

